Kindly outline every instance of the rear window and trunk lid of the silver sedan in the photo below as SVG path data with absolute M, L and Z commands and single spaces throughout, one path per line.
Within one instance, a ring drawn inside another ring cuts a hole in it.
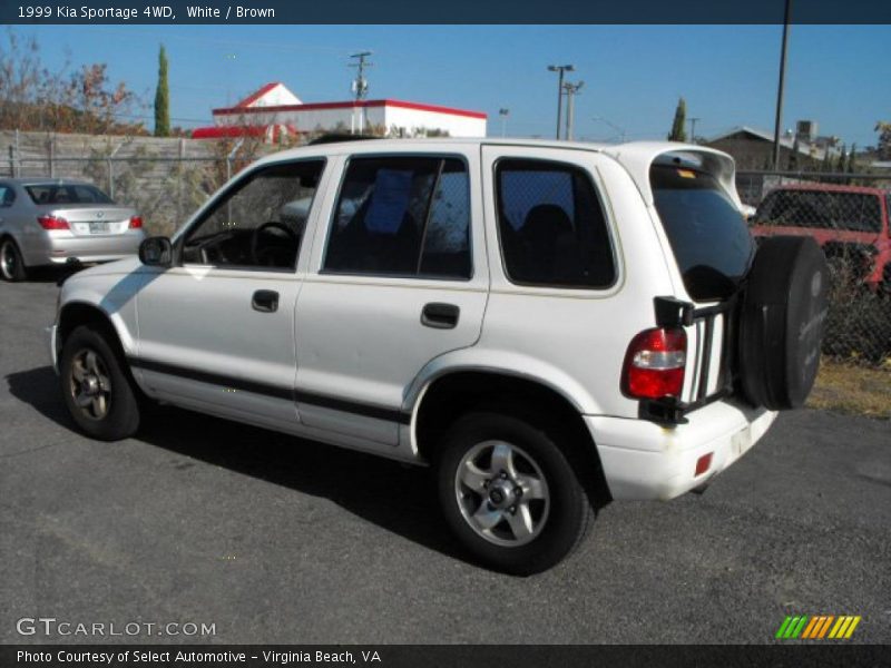
M 37 205 L 38 217 L 65 220 L 75 236 L 114 236 L 139 227 L 136 209 L 115 204 L 88 184 L 32 184 L 26 190 Z M 52 226 L 52 229 L 65 229 Z

